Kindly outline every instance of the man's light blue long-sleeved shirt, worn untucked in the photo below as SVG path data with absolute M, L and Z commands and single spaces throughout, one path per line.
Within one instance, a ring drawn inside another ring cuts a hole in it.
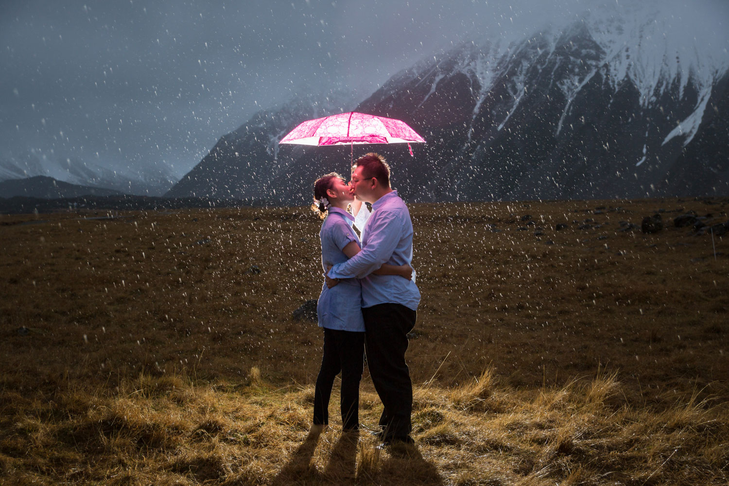
M 366 208 L 363 209 L 366 211 Z M 397 191 L 392 191 L 373 203 L 370 219 L 364 225 L 362 251 L 345 262 L 335 264 L 329 276 L 360 278 L 362 307 L 394 303 L 417 310 L 420 291 L 413 279 L 405 280 L 398 275 L 371 275 L 383 263 L 404 265 L 412 261 L 413 222 L 410 221 L 410 211 Z

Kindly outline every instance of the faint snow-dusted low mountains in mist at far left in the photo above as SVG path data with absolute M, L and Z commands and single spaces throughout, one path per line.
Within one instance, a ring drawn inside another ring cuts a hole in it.
M 0 181 L 14 181 L 34 176 L 99 189 L 114 189 L 130 195 L 163 195 L 173 184 L 174 176 L 167 168 L 139 171 L 114 171 L 76 158 L 48 157 L 27 153 L 0 159 Z M 2 195 L 0 194 L 0 197 Z

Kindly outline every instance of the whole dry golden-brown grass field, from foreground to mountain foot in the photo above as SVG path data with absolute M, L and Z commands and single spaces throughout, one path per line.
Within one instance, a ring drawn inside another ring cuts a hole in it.
M 0 216 L 0 484 L 726 485 L 729 238 L 673 219 L 728 205 L 412 205 L 399 451 L 341 436 L 338 395 L 308 434 L 308 209 Z

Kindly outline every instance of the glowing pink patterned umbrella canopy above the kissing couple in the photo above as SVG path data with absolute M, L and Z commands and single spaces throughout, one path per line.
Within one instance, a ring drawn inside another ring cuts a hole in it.
M 331 117 L 310 119 L 281 138 L 279 144 L 343 145 L 425 143 L 423 137 L 399 119 L 375 117 L 351 111 Z M 352 148 L 354 153 L 354 147 Z

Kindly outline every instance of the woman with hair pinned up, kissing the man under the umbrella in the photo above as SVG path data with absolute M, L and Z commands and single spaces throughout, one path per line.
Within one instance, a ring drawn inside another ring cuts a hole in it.
M 352 229 L 354 217 L 347 207 L 354 196 L 338 173 L 329 173 L 314 183 L 313 210 L 324 218 L 319 231 L 321 265 L 324 272 L 334 264 L 345 262 L 360 251 L 359 238 Z M 402 275 L 410 278 L 409 265 L 383 264 L 378 275 Z M 359 428 L 359 380 L 364 356 L 364 321 L 362 289 L 356 278 L 340 281 L 337 286 L 321 288 L 316 313 L 324 328 L 324 356 L 314 391 L 313 428 L 329 424 L 329 399 L 334 378 L 342 372 L 341 412 L 345 431 Z

